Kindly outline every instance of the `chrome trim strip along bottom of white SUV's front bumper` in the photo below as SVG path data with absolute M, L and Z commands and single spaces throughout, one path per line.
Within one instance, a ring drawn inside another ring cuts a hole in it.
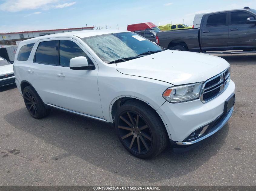
M 228 119 L 231 117 L 231 114 L 233 112 L 233 108 L 234 107 L 231 107 L 231 109 L 228 111 L 228 113 L 226 114 L 225 118 L 222 119 L 220 121 L 220 123 L 218 123 L 215 127 L 214 127 L 214 130 L 213 131 L 210 131 L 208 134 L 194 140 L 194 141 L 191 141 L 191 142 L 182 142 L 182 141 L 178 141 L 176 142 L 177 145 L 192 145 L 194 143 L 197 143 L 199 141 L 202 141 L 203 139 L 207 138 L 207 137 L 210 137 L 211 135 L 213 135 L 214 133 L 216 133 L 218 130 L 220 130 L 227 122 L 228 122 Z

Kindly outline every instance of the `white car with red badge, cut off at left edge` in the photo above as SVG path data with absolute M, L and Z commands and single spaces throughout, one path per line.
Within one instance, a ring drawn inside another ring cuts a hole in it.
M 0 87 L 15 84 L 13 65 L 0 57 Z

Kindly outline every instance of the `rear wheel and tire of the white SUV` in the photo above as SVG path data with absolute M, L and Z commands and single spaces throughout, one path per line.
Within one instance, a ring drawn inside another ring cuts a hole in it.
M 23 90 L 23 100 L 28 113 L 35 119 L 41 119 L 50 113 L 43 101 L 32 86 L 26 86 Z

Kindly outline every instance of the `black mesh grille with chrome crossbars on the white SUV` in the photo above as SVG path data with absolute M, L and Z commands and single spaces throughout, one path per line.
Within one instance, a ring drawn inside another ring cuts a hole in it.
M 218 78 L 219 80 L 216 81 L 216 78 Z M 214 97 L 217 97 L 219 94 L 225 91 L 225 89 L 228 87 L 229 81 L 230 81 L 230 66 L 220 74 L 204 82 L 204 84 L 202 85 L 202 89 L 199 97 L 201 102 L 206 103 L 211 99 L 213 99 Z M 208 82 L 210 85 L 207 85 Z M 212 82 L 214 83 L 212 84 Z M 211 95 L 211 93 L 213 95 Z

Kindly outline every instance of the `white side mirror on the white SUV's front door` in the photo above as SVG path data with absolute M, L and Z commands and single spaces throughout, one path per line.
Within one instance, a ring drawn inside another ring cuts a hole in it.
M 95 70 L 95 65 L 88 64 L 85 56 L 78 56 L 70 59 L 69 68 L 71 70 Z

